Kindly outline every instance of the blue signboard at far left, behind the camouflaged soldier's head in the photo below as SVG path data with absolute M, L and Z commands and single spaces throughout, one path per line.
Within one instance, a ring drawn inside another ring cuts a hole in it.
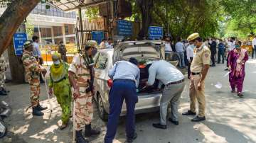
M 27 35 L 26 33 L 15 33 L 13 39 L 15 55 L 20 56 L 23 53 L 23 44 L 27 40 Z

